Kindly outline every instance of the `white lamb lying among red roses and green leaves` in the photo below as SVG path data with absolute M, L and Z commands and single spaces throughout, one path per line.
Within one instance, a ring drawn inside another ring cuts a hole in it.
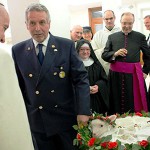
M 111 122 L 115 121 L 116 126 L 100 119 L 91 121 L 91 132 L 93 137 L 101 138 L 112 135 L 112 141 L 120 140 L 124 143 L 136 143 L 139 140 L 146 140 L 150 135 L 150 118 L 139 116 L 128 116 L 117 118 L 116 115 L 108 117 Z M 106 120 L 106 119 L 104 119 Z

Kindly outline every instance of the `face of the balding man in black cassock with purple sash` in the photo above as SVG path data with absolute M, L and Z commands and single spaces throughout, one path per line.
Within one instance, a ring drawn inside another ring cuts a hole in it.
M 121 18 L 121 27 L 122 31 L 125 34 L 128 34 L 132 31 L 133 28 L 133 23 L 134 23 L 134 17 L 132 15 L 124 15 Z

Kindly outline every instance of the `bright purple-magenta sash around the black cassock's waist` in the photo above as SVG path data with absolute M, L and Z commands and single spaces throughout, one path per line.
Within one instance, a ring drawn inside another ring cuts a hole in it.
M 141 110 L 144 110 L 148 112 L 141 64 L 115 62 L 115 63 L 111 63 L 110 69 L 115 72 L 133 74 L 134 111 L 141 112 Z

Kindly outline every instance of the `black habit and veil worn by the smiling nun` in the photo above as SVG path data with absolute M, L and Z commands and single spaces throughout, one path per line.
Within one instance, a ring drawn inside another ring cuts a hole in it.
M 90 58 L 93 59 L 94 63 L 90 66 L 85 66 L 86 70 L 88 71 L 88 78 L 90 86 L 98 85 L 98 92 L 95 94 L 90 94 L 90 106 L 92 112 L 97 113 L 106 113 L 108 112 L 109 108 L 109 93 L 108 93 L 108 81 L 107 76 L 104 71 L 104 68 L 98 61 L 93 48 L 87 40 L 80 40 L 77 42 L 77 51 L 79 52 L 80 47 L 87 43 L 91 49 Z

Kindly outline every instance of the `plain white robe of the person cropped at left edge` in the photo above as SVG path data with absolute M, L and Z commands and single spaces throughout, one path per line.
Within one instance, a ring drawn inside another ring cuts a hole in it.
M 0 150 L 33 150 L 15 66 L 10 54 L 2 49 L 0 69 Z

